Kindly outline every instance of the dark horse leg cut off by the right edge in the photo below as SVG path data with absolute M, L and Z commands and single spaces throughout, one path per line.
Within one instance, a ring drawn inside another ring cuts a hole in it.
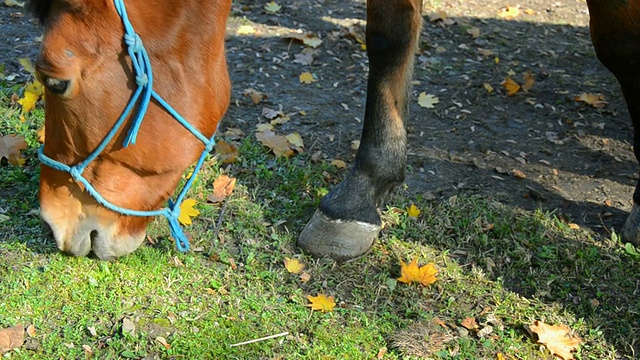
M 640 0 L 587 0 L 598 59 L 618 79 L 633 122 L 633 152 L 640 161 Z M 640 182 L 622 239 L 640 245 Z

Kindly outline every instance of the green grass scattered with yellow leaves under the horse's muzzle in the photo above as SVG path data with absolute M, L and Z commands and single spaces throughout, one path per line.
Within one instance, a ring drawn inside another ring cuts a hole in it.
M 633 356 L 639 257 L 615 239 L 570 229 L 553 214 L 464 195 L 426 201 L 403 189 L 370 254 L 343 265 L 314 260 L 295 247 L 296 235 L 346 171 L 311 164 L 307 154 L 276 160 L 252 136 L 238 162 L 221 169 L 212 158 L 198 176 L 190 196 L 202 214 L 186 229 L 193 251 L 177 252 L 158 219 L 149 228 L 155 244 L 125 258 L 63 255 L 34 215 L 42 112 L 22 122 L 7 95 L 0 133 L 26 136 L 30 149 L 23 167 L 0 167 L 9 216 L 0 223 L 0 328 L 31 324 L 36 333 L 3 358 L 84 358 L 84 345 L 100 359 L 371 359 L 385 347 L 385 359 L 552 359 L 526 330 L 535 320 L 571 327 L 583 339 L 576 358 Z M 224 212 L 204 200 L 220 173 L 238 178 Z M 418 219 L 397 211 L 411 203 Z M 285 257 L 305 263 L 311 280 L 289 274 Z M 435 284 L 395 280 L 400 259 L 414 257 L 437 265 Z M 335 311 L 306 306 L 318 293 L 336 298 Z M 492 332 L 463 330 L 467 317 Z M 123 333 L 125 318 L 133 334 Z

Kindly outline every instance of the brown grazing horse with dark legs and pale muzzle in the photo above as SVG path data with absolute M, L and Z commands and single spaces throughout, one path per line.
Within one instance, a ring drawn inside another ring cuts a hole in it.
M 598 57 L 618 78 L 634 123 L 640 159 L 640 0 L 588 0 Z M 43 154 L 65 166 L 82 163 L 121 116 L 140 76 L 123 41 L 111 0 L 32 0 L 45 26 L 37 70 L 46 86 Z M 127 3 L 143 40 L 155 91 L 203 136 L 211 136 L 229 102 L 224 33 L 230 0 L 145 0 Z M 349 176 L 324 199 L 298 244 L 317 256 L 348 259 L 366 253 L 380 230 L 378 206 L 402 183 L 405 116 L 421 0 L 368 0 L 370 74 L 361 145 Z M 197 27 L 192 24 L 198 24 Z M 197 73 L 198 76 L 190 76 Z M 147 216 L 123 215 L 162 206 L 183 171 L 205 146 L 157 101 L 149 105 L 135 146 L 126 126 L 77 174 L 42 166 L 40 204 L 58 247 L 101 259 L 128 254 L 143 241 Z M 129 120 L 129 119 L 126 119 Z M 133 125 L 129 125 L 133 126 Z M 640 244 L 640 185 L 623 238 Z

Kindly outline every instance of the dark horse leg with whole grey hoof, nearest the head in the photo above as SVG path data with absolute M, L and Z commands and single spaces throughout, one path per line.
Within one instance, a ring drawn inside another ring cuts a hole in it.
M 367 1 L 369 82 L 364 128 L 347 178 L 320 202 L 298 238 L 314 256 L 343 261 L 367 253 L 381 228 L 378 206 L 404 181 L 405 117 L 422 0 Z

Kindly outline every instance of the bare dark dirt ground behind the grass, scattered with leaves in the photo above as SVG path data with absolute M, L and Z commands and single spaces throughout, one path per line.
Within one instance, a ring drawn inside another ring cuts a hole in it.
M 300 133 L 307 155 L 322 151 L 350 162 L 364 115 L 368 62 L 353 36 L 362 30 L 364 2 L 281 1 L 275 14 L 265 4 L 233 5 L 227 53 L 234 85 L 221 131 L 241 128 L 253 136 L 255 125 L 268 121 L 263 108 L 281 107 L 291 121 L 278 131 Z M 498 16 L 507 5 L 517 5 L 519 15 Z M 434 10 L 448 20 L 431 21 Z M 408 191 L 436 201 L 479 194 L 555 211 L 601 234 L 619 230 L 638 166 L 618 85 L 590 43 L 586 3 L 433 0 L 425 2 L 424 14 L 408 121 Z M 255 32 L 239 35 L 242 25 Z M 472 28 L 479 37 L 467 32 Z M 24 9 L 2 5 L 0 29 L 0 64 L 19 81 L 17 59 L 35 57 L 41 30 Z M 295 62 L 305 46 L 283 36 L 298 29 L 323 40 L 311 64 Z M 300 83 L 307 71 L 315 83 Z M 526 71 L 535 85 L 508 97 L 500 83 L 509 75 L 522 83 Z M 268 98 L 254 105 L 243 95 L 248 88 Z M 435 108 L 418 106 L 423 91 L 439 98 Z M 575 101 L 583 92 L 604 94 L 608 105 Z

